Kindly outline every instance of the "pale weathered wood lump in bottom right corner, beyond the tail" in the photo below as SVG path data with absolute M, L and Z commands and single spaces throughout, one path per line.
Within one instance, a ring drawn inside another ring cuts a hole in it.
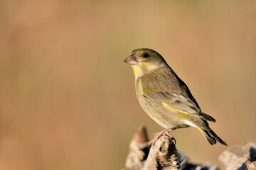
M 219 160 L 226 170 L 256 170 L 256 144 L 248 143 L 245 147 L 234 145 L 220 154 Z

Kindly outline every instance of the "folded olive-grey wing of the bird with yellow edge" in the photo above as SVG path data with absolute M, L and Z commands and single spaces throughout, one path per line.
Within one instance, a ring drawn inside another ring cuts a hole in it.
M 164 75 L 163 79 L 161 74 L 145 74 L 141 84 L 144 98 L 174 111 L 215 121 L 201 111 L 186 84 L 173 75 Z

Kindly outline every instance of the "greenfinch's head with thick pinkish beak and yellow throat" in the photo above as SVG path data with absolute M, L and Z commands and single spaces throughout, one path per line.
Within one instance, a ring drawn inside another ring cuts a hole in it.
M 166 64 L 164 58 L 158 52 L 148 48 L 133 50 L 132 54 L 124 62 L 132 65 L 136 77 L 152 72 Z

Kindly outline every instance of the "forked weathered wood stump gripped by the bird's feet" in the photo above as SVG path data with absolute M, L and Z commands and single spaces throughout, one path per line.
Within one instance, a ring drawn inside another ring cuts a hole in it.
M 146 128 L 139 127 L 129 145 L 129 154 L 124 170 L 218 170 L 210 164 L 191 164 L 186 154 L 178 152 L 169 137 L 161 137 L 154 147 L 148 147 Z

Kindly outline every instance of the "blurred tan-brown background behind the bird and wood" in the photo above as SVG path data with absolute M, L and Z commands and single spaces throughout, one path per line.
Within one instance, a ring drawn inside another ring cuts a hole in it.
M 256 1 L 0 1 L 0 169 L 121 169 L 139 125 L 132 50 L 186 82 L 229 147 L 256 142 Z M 174 130 L 193 162 L 227 147 Z

